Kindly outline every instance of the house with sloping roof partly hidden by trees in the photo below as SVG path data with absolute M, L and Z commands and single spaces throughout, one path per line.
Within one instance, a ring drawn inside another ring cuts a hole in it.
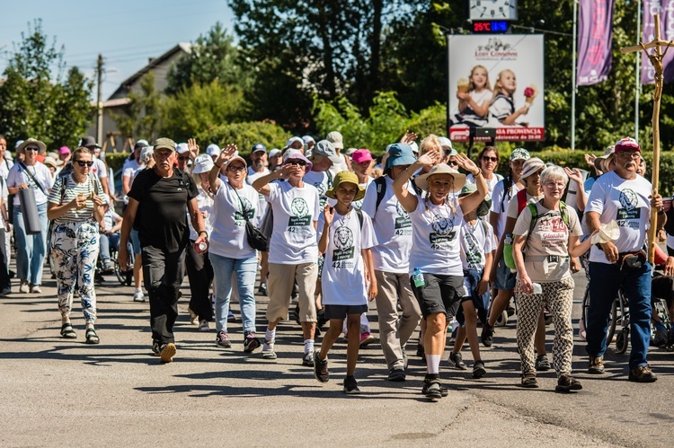
M 133 147 L 136 138 L 143 136 L 124 136 L 117 126 L 113 115 L 123 114 L 129 108 L 129 93 L 141 92 L 140 80 L 143 75 L 152 73 L 155 75 L 155 89 L 157 92 L 164 92 L 168 85 L 168 73 L 181 57 L 189 54 L 191 44 L 179 43 L 175 47 L 166 51 L 160 57 L 151 57 L 147 65 L 138 70 L 135 74 L 129 76 L 120 83 L 120 86 L 113 92 L 108 100 L 103 101 L 103 142 L 99 142 L 105 151 L 123 152 L 129 151 L 129 146 Z M 96 101 L 92 103 L 96 108 Z M 91 126 L 87 129 L 88 136 L 96 135 L 96 118 L 94 115 Z

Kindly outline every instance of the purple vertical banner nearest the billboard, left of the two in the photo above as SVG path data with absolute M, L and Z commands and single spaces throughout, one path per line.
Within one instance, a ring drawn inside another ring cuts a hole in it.
M 611 71 L 613 0 L 580 0 L 578 85 L 603 83 Z

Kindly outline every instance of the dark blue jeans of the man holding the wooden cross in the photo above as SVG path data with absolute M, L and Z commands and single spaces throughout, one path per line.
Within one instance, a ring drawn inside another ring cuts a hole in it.
M 630 369 L 647 365 L 651 343 L 651 265 L 621 271 L 616 265 L 590 262 L 590 307 L 588 308 L 588 355 L 604 356 L 607 346 L 608 314 L 617 291 L 623 286 L 630 312 L 632 352 Z

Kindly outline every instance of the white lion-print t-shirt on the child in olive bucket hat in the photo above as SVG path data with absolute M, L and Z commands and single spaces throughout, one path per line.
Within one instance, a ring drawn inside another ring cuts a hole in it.
M 365 264 L 360 250 L 376 246 L 377 238 L 369 216 L 364 213 L 361 215 L 362 229 L 356 210 L 351 209 L 347 215 L 334 212 L 321 277 L 324 304 L 368 303 Z

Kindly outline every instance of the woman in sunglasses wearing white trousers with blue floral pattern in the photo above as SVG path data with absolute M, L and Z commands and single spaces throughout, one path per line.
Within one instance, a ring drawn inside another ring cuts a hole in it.
M 28 158 L 28 157 L 27 157 Z M 54 221 L 51 233 L 51 256 L 57 277 L 58 310 L 61 312 L 61 336 L 76 338 L 70 323 L 75 284 L 80 295 L 87 344 L 98 344 L 93 328 L 96 320 L 96 293 L 93 272 L 100 250 L 99 224 L 103 219 L 102 185 L 89 171 L 93 154 L 80 146 L 73 151 L 73 171 L 59 177 L 49 193 L 49 219 Z M 34 289 L 34 288 L 33 288 Z

